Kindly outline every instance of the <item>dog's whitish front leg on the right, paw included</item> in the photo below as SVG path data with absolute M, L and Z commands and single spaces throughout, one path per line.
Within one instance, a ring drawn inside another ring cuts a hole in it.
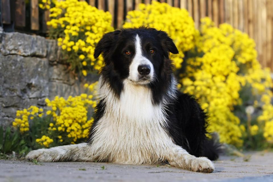
M 214 164 L 206 157 L 195 157 L 177 145 L 167 151 L 166 159 L 171 166 L 202 173 L 214 171 Z

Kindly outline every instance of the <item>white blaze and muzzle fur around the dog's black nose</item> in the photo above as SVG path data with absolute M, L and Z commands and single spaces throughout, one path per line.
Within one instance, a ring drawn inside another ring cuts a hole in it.
M 150 62 L 150 60 L 148 60 L 146 57 L 143 56 L 141 39 L 137 34 L 135 37 L 135 57 L 133 58 L 133 61 L 129 67 L 128 79 L 131 81 L 138 81 L 140 77 L 140 74 L 138 73 L 138 66 L 144 65 L 144 64 L 150 66 L 151 70 L 148 76 L 150 76 L 150 79 L 152 80 L 154 75 L 154 67 L 153 67 L 153 64 Z

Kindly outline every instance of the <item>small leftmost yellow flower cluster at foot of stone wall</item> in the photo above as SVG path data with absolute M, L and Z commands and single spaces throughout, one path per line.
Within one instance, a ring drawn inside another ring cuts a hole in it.
M 43 109 L 36 106 L 30 106 L 28 109 L 17 110 L 16 118 L 12 123 L 13 127 L 20 130 L 21 133 L 29 130 L 29 119 L 32 120 L 34 117 L 42 117 Z

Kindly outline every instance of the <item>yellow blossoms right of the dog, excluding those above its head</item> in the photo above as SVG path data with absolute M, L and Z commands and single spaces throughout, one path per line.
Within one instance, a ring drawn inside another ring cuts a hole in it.
M 196 49 L 191 51 L 194 56 L 187 59 L 186 71 L 180 74 L 182 89 L 195 95 L 208 111 L 209 132 L 217 131 L 221 142 L 241 146 L 245 128 L 233 113 L 233 106 L 243 102 L 239 91 L 246 84 L 251 85 L 256 96 L 269 91 L 270 71 L 261 69 L 253 39 L 229 24 L 217 28 L 209 18 L 201 19 L 200 36 L 195 44 Z M 264 110 L 273 108 L 270 101 L 267 104 Z M 273 120 L 273 115 L 266 113 L 259 119 Z M 251 126 L 251 134 L 256 135 L 258 128 L 258 125 Z M 268 128 L 264 128 L 267 139 L 273 136 L 273 130 Z

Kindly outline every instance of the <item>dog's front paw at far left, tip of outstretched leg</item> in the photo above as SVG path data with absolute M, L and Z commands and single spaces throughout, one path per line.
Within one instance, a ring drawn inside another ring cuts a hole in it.
M 30 151 L 25 159 L 30 161 L 36 159 L 40 162 L 56 162 L 59 159 L 59 154 L 54 150 L 42 148 Z

